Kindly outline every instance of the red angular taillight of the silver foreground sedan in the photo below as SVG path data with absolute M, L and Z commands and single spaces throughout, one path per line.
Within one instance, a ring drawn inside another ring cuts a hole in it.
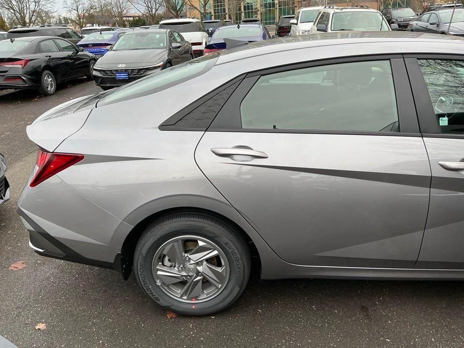
M 79 162 L 84 158 L 81 154 L 76 153 L 55 153 L 39 150 L 37 152 L 36 165 L 37 169 L 34 172 L 30 187 L 35 187 L 53 177 L 56 173 L 60 172 L 67 167 Z

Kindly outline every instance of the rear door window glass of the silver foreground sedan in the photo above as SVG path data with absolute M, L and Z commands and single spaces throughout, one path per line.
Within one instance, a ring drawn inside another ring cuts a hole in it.
M 398 132 L 390 61 L 261 76 L 243 99 L 240 116 L 242 128 Z

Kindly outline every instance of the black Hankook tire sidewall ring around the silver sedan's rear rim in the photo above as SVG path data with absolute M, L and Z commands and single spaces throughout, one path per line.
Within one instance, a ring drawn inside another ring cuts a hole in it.
M 182 235 L 203 237 L 216 244 L 226 255 L 230 274 L 225 288 L 212 299 L 205 302 L 187 303 L 176 300 L 156 284 L 151 270 L 154 254 L 167 241 Z M 152 228 L 143 243 L 137 246 L 134 258 L 135 276 L 147 295 L 159 305 L 187 315 L 204 315 L 218 312 L 232 304 L 243 292 L 249 276 L 249 257 L 247 250 L 234 238 L 220 228 L 200 222 L 171 222 Z M 143 237 L 142 237 L 143 238 Z

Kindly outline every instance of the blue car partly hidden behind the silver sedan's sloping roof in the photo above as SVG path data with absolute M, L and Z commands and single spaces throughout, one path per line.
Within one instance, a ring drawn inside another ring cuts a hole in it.
M 210 43 L 205 46 L 204 55 L 226 49 L 227 45 L 224 39 L 255 42 L 267 40 L 270 37 L 266 27 L 261 24 L 238 24 L 236 26 L 220 27 L 214 32 Z

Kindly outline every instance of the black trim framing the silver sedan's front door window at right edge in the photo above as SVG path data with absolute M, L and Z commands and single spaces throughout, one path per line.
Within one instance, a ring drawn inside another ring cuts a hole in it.
M 451 138 L 464 139 L 464 134 L 441 133 L 436 121 L 436 115 L 430 102 L 427 85 L 420 69 L 418 59 L 459 60 L 464 61 L 462 55 L 453 54 L 406 54 L 404 61 L 411 83 L 412 94 L 419 119 L 419 127 L 425 138 Z

